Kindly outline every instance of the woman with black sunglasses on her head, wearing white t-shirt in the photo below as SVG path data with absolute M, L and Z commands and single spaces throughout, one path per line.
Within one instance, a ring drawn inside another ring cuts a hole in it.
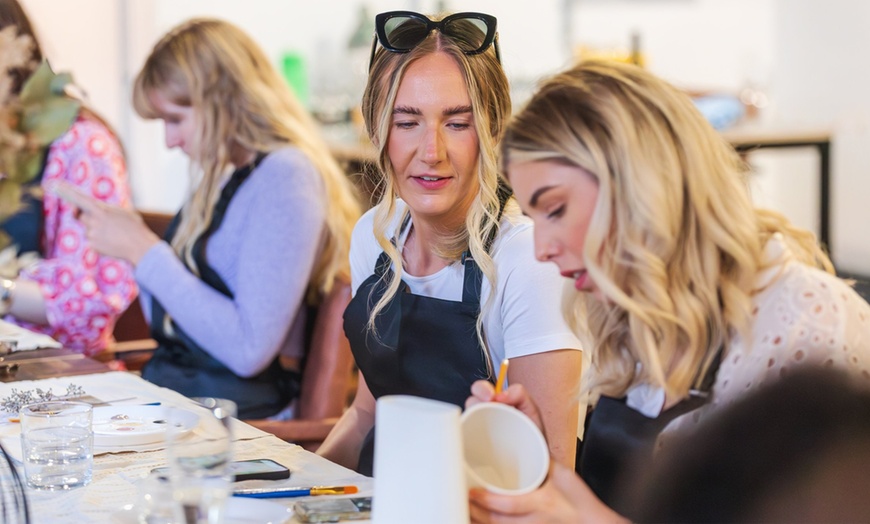
M 558 313 L 555 268 L 534 260 L 531 224 L 499 185 L 510 97 L 495 29 L 479 13 L 376 18 L 383 49 L 362 106 L 383 195 L 354 229 L 345 312 L 361 377 L 318 451 L 365 474 L 377 398 L 461 406 L 505 358 L 510 383 L 543 406 L 553 456 L 573 465 L 580 346 Z

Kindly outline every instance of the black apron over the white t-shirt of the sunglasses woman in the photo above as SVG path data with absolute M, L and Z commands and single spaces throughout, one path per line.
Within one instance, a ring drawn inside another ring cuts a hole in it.
M 406 220 L 403 230 L 407 224 Z M 375 399 L 415 395 L 462 408 L 471 384 L 488 378 L 487 358 L 477 338 L 483 273 L 468 253 L 462 264 L 461 302 L 414 295 L 400 282 L 375 319 L 377 336 L 367 329 L 367 322 L 386 290 L 385 278 L 392 276 L 386 253 L 357 289 L 344 313 L 344 332 Z M 371 476 L 373 465 L 374 428 L 363 441 L 357 470 Z

